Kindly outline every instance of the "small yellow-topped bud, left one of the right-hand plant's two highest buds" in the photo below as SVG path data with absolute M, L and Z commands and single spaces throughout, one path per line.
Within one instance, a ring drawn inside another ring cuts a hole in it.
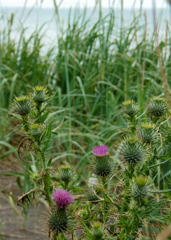
M 139 108 L 133 100 L 128 100 L 122 103 L 122 111 L 130 117 L 133 117 Z

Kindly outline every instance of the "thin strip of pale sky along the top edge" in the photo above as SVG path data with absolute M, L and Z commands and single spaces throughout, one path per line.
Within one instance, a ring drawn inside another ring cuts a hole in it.
M 56 0 L 57 5 L 62 0 Z M 63 0 L 61 3 L 61 7 L 75 7 L 80 6 L 84 7 L 93 7 L 97 0 Z M 101 0 L 103 7 L 109 7 L 114 4 L 115 7 L 119 7 L 121 0 Z M 135 7 L 139 8 L 140 3 L 143 1 L 144 8 L 151 8 L 153 0 L 124 0 L 124 7 L 130 8 L 135 3 Z M 155 0 L 157 7 L 168 7 L 167 0 Z M 42 7 L 53 7 L 53 0 L 0 0 L 0 7 L 9 7 L 9 6 L 16 6 L 16 7 L 23 7 L 24 3 L 26 2 L 26 6 L 32 7 L 35 3 L 40 6 L 40 2 L 42 3 Z

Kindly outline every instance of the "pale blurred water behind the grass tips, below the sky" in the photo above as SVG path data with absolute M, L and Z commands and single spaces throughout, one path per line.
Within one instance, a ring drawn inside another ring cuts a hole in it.
M 111 9 L 109 8 L 103 8 L 102 14 L 103 16 L 110 13 Z M 114 9 L 115 11 L 115 33 L 114 37 L 117 37 L 119 28 L 121 26 L 121 10 L 120 9 Z M 14 40 L 18 40 L 21 28 L 27 28 L 25 34 L 26 38 L 28 38 L 33 31 L 36 29 L 39 29 L 42 26 L 41 34 L 44 34 L 43 37 L 43 44 L 45 46 L 51 46 L 51 44 L 55 44 L 57 41 L 57 36 L 61 35 L 61 31 L 65 31 L 68 26 L 68 22 L 72 25 L 74 21 L 74 17 L 76 19 L 78 16 L 83 16 L 84 9 L 72 9 L 71 13 L 69 14 L 68 8 L 59 8 L 59 18 L 60 23 L 57 21 L 57 16 L 54 13 L 53 8 L 34 8 L 31 10 L 30 8 L 25 8 L 23 11 L 23 8 L 14 8 L 14 7 L 6 7 L 0 9 L 0 15 L 3 15 L 3 18 L 0 18 L 0 30 L 2 31 L 5 27 L 4 24 L 6 21 L 4 19 L 10 19 L 11 13 L 14 14 L 14 21 L 12 25 L 12 37 Z M 153 12 L 152 9 L 142 9 L 141 18 L 139 22 L 139 26 L 144 26 L 145 18 L 144 13 L 147 15 L 147 29 L 148 34 L 152 34 L 154 30 L 153 26 Z M 132 21 L 134 20 L 134 17 L 137 17 L 140 15 L 140 9 L 134 9 L 132 11 L 131 9 L 124 9 L 123 11 L 123 19 L 124 19 L 124 26 L 129 27 Z M 86 19 L 89 19 L 89 26 L 92 27 L 92 25 L 98 20 L 99 17 L 99 11 L 98 9 L 93 13 L 92 8 L 88 8 L 86 11 Z M 159 23 L 158 25 L 158 31 L 159 36 L 161 39 L 165 38 L 166 35 L 166 23 L 170 20 L 170 12 L 169 8 L 167 9 L 157 9 L 157 21 Z M 44 24 L 44 25 L 43 25 Z M 80 19 L 81 24 L 81 19 Z M 144 27 L 142 28 L 142 31 L 144 31 Z M 148 36 L 147 34 L 147 36 Z M 140 36 L 138 36 L 140 37 Z

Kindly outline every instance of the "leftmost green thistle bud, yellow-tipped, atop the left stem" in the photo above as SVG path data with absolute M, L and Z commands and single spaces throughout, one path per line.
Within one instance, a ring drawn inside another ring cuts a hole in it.
M 14 111 L 21 115 L 26 116 L 31 111 L 31 101 L 27 96 L 16 97 L 13 102 Z

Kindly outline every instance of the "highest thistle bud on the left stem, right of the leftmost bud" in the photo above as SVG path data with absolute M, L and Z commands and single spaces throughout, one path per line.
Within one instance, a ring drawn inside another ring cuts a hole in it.
M 33 88 L 31 97 L 34 102 L 41 104 L 47 100 L 47 89 L 42 86 L 36 86 Z

